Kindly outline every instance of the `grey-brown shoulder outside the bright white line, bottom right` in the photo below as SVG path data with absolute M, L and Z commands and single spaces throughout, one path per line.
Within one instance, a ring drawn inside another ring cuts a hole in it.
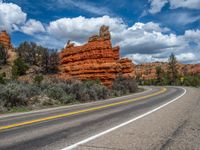
M 200 89 L 186 90 L 170 105 L 76 149 L 200 150 Z

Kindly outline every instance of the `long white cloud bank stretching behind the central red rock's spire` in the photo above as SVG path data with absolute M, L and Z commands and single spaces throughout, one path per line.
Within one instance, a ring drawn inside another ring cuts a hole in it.
M 60 46 L 63 46 L 67 40 L 84 43 L 91 35 L 98 34 L 101 25 L 110 27 L 113 44 L 121 46 L 122 55 L 136 52 L 158 53 L 165 48 L 176 47 L 175 35 L 162 34 L 170 31 L 166 27 L 153 22 L 146 24 L 138 22 L 128 28 L 122 19 L 109 16 L 61 18 L 49 23 L 47 36 L 51 36 L 55 43 L 62 41 L 63 44 Z M 43 39 L 46 43 L 52 44 L 50 38 Z

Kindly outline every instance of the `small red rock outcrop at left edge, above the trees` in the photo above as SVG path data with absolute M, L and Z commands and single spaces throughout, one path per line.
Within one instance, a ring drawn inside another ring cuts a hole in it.
M 0 32 L 0 43 L 3 44 L 5 48 L 12 48 L 10 36 L 6 31 Z

